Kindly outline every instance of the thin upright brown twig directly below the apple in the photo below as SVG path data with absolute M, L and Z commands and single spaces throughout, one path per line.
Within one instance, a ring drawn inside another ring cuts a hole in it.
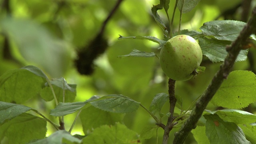
M 168 139 L 169 139 L 169 134 L 170 131 L 172 130 L 172 122 L 174 120 L 173 113 L 174 113 L 174 108 L 176 104 L 176 97 L 175 97 L 175 80 L 172 80 L 169 78 L 168 80 L 168 92 L 169 92 L 169 102 L 170 102 L 170 116 L 168 118 L 167 124 L 164 128 L 164 137 L 163 137 L 163 144 L 168 144 Z

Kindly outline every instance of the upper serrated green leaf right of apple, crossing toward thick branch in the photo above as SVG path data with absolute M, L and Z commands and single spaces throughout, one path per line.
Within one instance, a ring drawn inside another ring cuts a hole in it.
M 245 22 L 235 20 L 214 20 L 205 22 L 200 30 L 202 30 L 203 36 L 214 37 L 218 40 L 234 41 L 245 24 Z

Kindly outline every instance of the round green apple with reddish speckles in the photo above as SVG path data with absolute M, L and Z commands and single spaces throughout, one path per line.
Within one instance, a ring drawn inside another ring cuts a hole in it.
M 202 62 L 198 42 L 188 35 L 174 36 L 160 52 L 160 65 L 166 76 L 173 80 L 189 80 Z

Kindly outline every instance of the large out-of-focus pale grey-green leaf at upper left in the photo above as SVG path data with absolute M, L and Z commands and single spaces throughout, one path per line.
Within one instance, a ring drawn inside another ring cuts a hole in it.
M 29 19 L 8 17 L 1 20 L 0 27 L 26 60 L 39 64 L 53 77 L 63 75 L 68 69 L 71 46 L 53 37 L 42 25 Z

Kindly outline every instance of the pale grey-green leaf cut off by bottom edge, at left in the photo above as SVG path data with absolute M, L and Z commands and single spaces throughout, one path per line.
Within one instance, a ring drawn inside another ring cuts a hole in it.
M 66 140 L 66 141 L 65 141 Z M 82 143 L 82 140 L 72 136 L 69 132 L 66 130 L 57 130 L 47 138 L 44 138 L 42 140 L 37 140 L 36 142 L 32 142 L 30 144 L 63 144 L 65 141 L 65 144 L 80 144 Z

